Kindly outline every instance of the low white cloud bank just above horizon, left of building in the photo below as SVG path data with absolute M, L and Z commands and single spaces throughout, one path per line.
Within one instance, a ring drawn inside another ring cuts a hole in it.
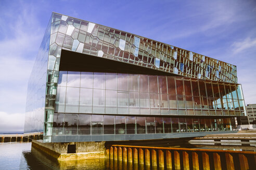
M 0 133 L 23 133 L 25 114 L 0 111 Z

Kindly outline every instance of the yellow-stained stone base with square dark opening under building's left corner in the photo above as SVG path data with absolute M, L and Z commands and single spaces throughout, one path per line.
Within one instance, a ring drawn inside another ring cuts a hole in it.
M 58 161 L 105 158 L 105 142 L 43 143 L 33 140 L 32 147 L 40 149 Z

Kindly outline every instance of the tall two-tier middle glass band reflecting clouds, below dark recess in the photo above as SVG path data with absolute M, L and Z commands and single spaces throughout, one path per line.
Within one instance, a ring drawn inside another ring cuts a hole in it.
M 55 111 L 244 116 L 239 86 L 187 77 L 60 71 Z

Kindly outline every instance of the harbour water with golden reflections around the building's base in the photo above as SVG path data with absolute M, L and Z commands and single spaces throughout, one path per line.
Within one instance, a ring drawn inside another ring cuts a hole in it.
M 150 144 L 145 143 L 150 146 Z M 220 149 L 220 150 L 240 150 L 256 151 L 256 147 L 247 146 L 206 146 L 191 145 L 188 143 L 162 143 L 151 146 L 177 147 L 177 148 L 197 148 L 197 149 Z M 116 157 L 115 157 L 116 158 Z M 154 166 L 146 164 L 133 164 L 109 159 L 88 159 L 76 161 L 62 161 L 49 157 L 49 155 L 31 148 L 31 143 L 1 143 L 0 144 L 0 169 L 156 169 Z

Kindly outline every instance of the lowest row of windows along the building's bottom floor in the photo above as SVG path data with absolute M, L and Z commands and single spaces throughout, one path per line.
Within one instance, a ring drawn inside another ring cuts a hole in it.
M 54 114 L 53 135 L 155 134 L 232 130 L 233 118 Z

